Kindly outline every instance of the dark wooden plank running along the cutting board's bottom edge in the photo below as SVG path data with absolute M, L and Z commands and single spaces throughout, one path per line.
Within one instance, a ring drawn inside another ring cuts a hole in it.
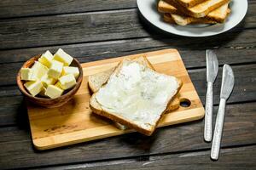
M 227 105 L 223 147 L 256 144 L 255 104 Z M 217 107 L 214 107 L 214 111 L 217 111 Z M 206 150 L 211 147 L 211 144 L 203 141 L 203 122 L 197 121 L 160 128 L 151 137 L 131 133 L 55 150 L 37 151 L 32 149 L 27 124 L 22 119 L 20 122 L 23 123 L 19 127 L 0 128 L 0 136 L 3 137 L 0 139 L 2 168 L 103 161 L 129 156 Z

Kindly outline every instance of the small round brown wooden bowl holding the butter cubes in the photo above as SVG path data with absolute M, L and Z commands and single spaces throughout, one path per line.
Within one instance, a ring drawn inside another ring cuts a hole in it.
M 32 57 L 32 59 L 27 60 L 26 63 L 22 65 L 21 68 L 32 67 L 35 61 L 37 61 L 40 58 L 40 56 L 41 55 L 39 54 L 35 57 Z M 26 91 L 26 88 L 24 87 L 25 81 L 20 80 L 20 71 L 19 71 L 16 77 L 16 81 L 17 81 L 18 87 L 20 88 L 20 92 L 26 97 L 27 100 L 31 101 L 33 104 L 41 105 L 47 108 L 60 107 L 61 105 L 66 104 L 70 99 L 73 98 L 73 95 L 77 93 L 83 80 L 83 69 L 82 69 L 82 66 L 79 64 L 79 61 L 77 59 L 73 59 L 71 66 L 76 66 L 79 68 L 79 77 L 77 78 L 77 83 L 73 88 L 69 90 L 65 90 L 64 94 L 62 94 L 60 97 L 55 99 L 48 99 L 44 97 L 33 97 L 31 94 L 29 94 Z

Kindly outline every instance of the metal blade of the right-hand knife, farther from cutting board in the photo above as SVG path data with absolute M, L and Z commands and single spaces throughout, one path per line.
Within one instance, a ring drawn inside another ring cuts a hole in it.
M 220 98 L 228 99 L 234 88 L 235 77 L 230 65 L 224 65 L 223 75 L 222 75 L 222 84 L 220 89 Z

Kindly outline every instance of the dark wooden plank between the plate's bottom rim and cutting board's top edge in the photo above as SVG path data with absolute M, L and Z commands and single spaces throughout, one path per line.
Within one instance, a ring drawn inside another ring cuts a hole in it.
M 137 54 L 162 48 L 177 48 L 189 67 L 205 65 L 204 51 L 206 48 L 218 48 L 216 53 L 218 59 L 224 63 L 235 63 L 255 61 L 256 30 L 244 30 L 241 32 L 230 32 L 212 38 L 192 38 L 186 41 L 184 37 L 173 38 L 136 38 L 130 40 L 88 42 L 72 45 L 50 46 L 43 48 L 21 48 L 0 51 L 0 64 L 9 62 L 24 62 L 32 56 L 42 54 L 46 50 L 52 53 L 58 48 L 63 48 L 68 54 L 79 58 L 81 62 L 91 60 L 108 59 L 128 54 Z M 193 49 L 191 51 L 191 49 Z M 241 57 L 242 56 L 242 57 Z

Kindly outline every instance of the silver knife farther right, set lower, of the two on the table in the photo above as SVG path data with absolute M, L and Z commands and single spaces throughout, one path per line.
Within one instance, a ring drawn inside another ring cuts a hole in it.
M 230 65 L 224 65 L 222 73 L 222 84 L 220 90 L 220 101 L 218 105 L 218 113 L 214 128 L 214 135 L 212 140 L 211 158 L 212 160 L 218 160 L 220 141 L 224 126 L 224 114 L 226 100 L 230 97 L 230 94 L 234 88 L 234 74 Z

